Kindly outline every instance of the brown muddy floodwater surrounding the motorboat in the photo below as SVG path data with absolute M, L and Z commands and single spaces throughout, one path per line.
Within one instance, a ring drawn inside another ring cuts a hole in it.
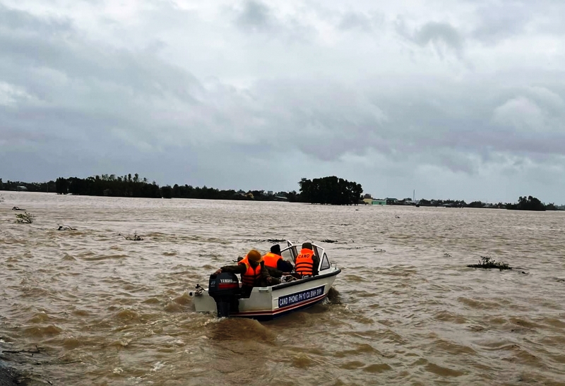
M 564 212 L 0 195 L 1 356 L 37 384 L 565 385 Z M 338 241 L 329 301 L 194 312 L 194 285 L 285 238 Z

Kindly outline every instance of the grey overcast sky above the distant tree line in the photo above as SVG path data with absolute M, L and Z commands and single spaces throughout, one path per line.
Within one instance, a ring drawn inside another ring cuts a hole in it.
M 0 0 L 0 178 L 565 203 L 563 20 L 563 0 Z

